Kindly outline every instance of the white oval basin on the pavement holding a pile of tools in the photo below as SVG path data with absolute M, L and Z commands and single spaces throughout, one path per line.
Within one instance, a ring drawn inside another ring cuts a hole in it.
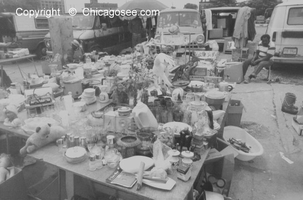
M 234 137 L 235 139 L 241 139 L 241 142 L 245 142 L 247 146 L 251 146 L 251 149 L 248 153 L 238 150 L 231 145 L 231 147 L 238 153 L 236 156 L 237 159 L 242 161 L 248 161 L 255 158 L 258 155 L 262 155 L 264 152 L 262 144 L 251 136 L 244 129 L 237 126 L 225 126 L 223 131 L 223 139 L 228 141 L 230 138 Z

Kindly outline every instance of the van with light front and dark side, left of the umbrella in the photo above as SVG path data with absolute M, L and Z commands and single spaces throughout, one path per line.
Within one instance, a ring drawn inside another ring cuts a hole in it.
M 84 52 L 93 50 L 117 54 L 122 49 L 131 46 L 131 33 L 127 20 L 121 20 L 118 16 L 84 15 L 82 12 L 72 17 L 73 36 L 81 41 Z M 142 32 L 146 37 L 145 30 Z M 52 55 L 50 33 L 45 35 L 47 54 Z

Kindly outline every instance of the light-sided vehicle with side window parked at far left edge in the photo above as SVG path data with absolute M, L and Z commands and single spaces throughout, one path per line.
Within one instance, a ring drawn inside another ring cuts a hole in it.
M 38 57 L 46 55 L 44 36 L 49 31 L 46 16 L 29 17 L 14 12 L 0 13 L 0 42 L 15 38 L 20 48 L 28 48 Z

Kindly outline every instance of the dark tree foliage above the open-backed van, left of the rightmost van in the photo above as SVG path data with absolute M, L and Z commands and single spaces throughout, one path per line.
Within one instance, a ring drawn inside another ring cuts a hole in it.
M 255 15 L 264 15 L 267 8 L 274 8 L 282 0 L 246 0 L 238 3 L 239 7 L 248 6 L 256 8 Z

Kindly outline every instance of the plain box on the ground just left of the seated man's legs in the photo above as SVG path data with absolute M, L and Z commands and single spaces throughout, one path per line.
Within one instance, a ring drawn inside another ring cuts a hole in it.
M 228 82 L 241 83 L 244 80 L 242 62 L 226 62 L 225 74 L 228 75 Z

